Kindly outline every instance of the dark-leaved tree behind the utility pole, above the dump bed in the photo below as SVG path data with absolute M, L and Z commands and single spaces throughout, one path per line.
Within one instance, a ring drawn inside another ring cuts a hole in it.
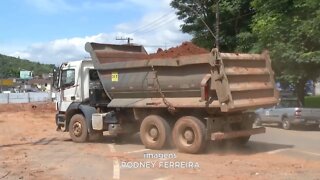
M 193 36 L 192 42 L 198 46 L 211 49 L 215 39 L 215 10 L 218 0 L 173 0 L 171 6 L 177 10 L 178 18 L 184 21 L 181 30 Z M 221 51 L 249 51 L 255 41 L 250 23 L 254 10 L 250 8 L 251 0 L 220 0 Z

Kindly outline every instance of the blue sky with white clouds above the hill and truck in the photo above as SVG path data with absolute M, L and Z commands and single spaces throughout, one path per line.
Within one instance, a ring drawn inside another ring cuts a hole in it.
M 147 51 L 190 39 L 180 32 L 171 0 L 2 0 L 0 53 L 59 64 L 89 57 L 86 42 L 123 44 L 133 38 Z

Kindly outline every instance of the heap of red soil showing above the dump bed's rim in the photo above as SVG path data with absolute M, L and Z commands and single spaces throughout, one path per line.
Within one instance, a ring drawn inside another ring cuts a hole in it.
M 205 53 L 209 53 L 209 51 L 204 48 L 200 48 L 191 42 L 184 42 L 180 46 L 173 47 L 168 50 L 162 50 L 161 48 L 159 48 L 157 53 L 149 54 L 148 58 L 175 58 L 179 56 L 188 56 Z

